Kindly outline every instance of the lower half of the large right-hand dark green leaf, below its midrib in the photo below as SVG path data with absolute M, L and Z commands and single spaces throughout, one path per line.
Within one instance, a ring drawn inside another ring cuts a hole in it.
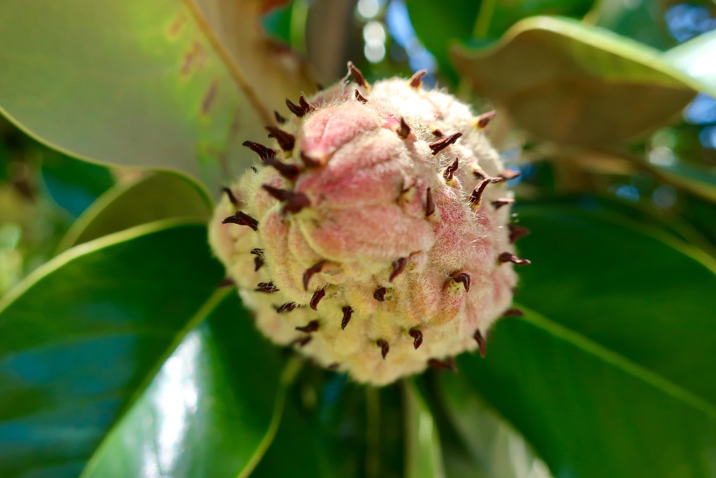
M 716 473 L 713 403 L 534 312 L 498 322 L 488 358 L 462 355 L 458 368 L 555 477 Z

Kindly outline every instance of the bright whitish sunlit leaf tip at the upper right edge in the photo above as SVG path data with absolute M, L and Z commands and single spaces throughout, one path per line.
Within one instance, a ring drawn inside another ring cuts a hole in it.
M 716 97 L 716 30 L 700 34 L 664 53 L 664 61 L 699 82 L 702 92 Z

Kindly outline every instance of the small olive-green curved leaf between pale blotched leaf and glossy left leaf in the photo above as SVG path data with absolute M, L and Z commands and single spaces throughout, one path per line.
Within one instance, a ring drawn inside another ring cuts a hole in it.
M 208 221 L 211 209 L 211 199 L 194 181 L 175 173 L 152 173 L 118 184 L 97 199 L 67 231 L 58 252 L 160 219 Z

